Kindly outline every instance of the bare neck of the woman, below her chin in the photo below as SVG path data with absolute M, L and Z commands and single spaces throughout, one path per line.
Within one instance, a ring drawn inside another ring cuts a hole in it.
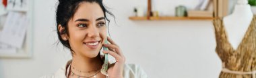
M 79 69 L 79 71 L 100 69 L 102 65 L 103 61 L 101 60 L 100 55 L 94 58 L 73 55 L 71 63 L 71 67 L 75 67 L 75 69 Z

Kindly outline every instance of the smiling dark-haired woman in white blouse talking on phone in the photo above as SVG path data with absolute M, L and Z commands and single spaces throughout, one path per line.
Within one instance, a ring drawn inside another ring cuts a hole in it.
M 51 78 L 145 78 L 146 73 L 137 65 L 125 64 L 118 45 L 106 36 L 106 10 L 102 0 L 59 0 L 56 12 L 59 41 L 70 49 L 72 59 Z M 104 41 L 109 43 L 104 43 Z M 108 65 L 107 74 L 100 72 L 104 63 L 100 49 L 116 59 Z

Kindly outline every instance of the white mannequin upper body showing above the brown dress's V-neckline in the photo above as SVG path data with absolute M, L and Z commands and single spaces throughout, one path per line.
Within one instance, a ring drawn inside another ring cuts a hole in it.
M 238 0 L 232 14 L 223 18 L 228 41 L 233 49 L 238 48 L 252 19 L 253 13 L 247 0 Z

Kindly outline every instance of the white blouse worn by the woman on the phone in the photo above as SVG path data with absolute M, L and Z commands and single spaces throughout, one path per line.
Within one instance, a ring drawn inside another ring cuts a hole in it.
M 61 69 L 59 69 L 56 73 L 52 75 L 44 75 L 43 77 L 40 77 L 40 78 L 67 78 L 66 70 L 68 69 L 70 63 L 71 62 L 68 61 L 67 64 L 61 67 Z M 148 78 L 148 75 L 138 65 L 125 64 L 125 66 L 123 67 L 123 77 L 124 78 Z

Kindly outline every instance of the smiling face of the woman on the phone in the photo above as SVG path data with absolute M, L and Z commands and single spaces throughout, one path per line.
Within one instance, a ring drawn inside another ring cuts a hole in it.
M 69 43 L 75 56 L 96 57 L 106 39 L 105 17 L 98 3 L 80 3 L 68 23 Z

